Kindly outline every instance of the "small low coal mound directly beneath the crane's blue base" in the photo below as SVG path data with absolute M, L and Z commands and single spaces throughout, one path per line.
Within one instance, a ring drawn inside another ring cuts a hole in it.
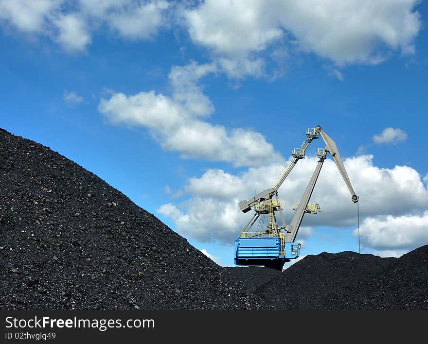
M 272 278 L 281 275 L 281 271 L 258 266 L 248 267 L 226 267 L 237 280 L 251 292 L 255 292 L 259 287 L 269 282 Z

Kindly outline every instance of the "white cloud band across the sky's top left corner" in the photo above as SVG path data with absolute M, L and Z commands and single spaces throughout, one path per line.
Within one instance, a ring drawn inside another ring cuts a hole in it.
M 94 31 L 109 28 L 126 39 L 153 38 L 168 26 L 166 0 L 0 0 L 0 22 L 41 34 L 66 52 L 85 52 Z

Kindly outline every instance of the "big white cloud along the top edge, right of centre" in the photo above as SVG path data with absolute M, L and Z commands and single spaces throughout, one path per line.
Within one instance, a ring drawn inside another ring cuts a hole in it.
M 184 11 L 192 40 L 215 54 L 247 56 L 287 39 L 291 46 L 346 63 L 377 64 L 385 50 L 414 53 L 419 0 L 206 0 Z

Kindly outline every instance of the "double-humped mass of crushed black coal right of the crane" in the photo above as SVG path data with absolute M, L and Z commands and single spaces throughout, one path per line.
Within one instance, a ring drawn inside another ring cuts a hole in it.
M 427 310 L 428 245 L 400 258 L 306 256 L 256 293 L 277 310 Z

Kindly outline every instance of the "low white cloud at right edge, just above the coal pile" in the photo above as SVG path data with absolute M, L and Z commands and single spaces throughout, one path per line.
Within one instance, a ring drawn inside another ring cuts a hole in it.
M 358 230 L 354 230 L 358 235 Z M 368 217 L 360 225 L 363 245 L 377 251 L 409 251 L 428 244 L 428 210 L 420 215 Z

